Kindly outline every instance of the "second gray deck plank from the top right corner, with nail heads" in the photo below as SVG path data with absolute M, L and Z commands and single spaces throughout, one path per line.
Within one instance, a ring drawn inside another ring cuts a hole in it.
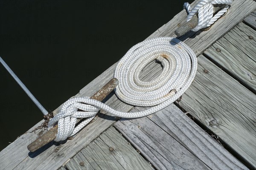
M 256 31 L 253 28 L 239 23 L 204 51 L 204 54 L 256 93 Z

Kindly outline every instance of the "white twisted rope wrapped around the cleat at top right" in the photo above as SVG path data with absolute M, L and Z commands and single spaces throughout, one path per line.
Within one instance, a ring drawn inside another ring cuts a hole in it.
M 198 25 L 192 29 L 192 31 L 198 31 L 201 28 L 206 28 L 211 26 L 219 17 L 221 17 L 229 8 L 233 0 L 201 0 L 198 4 L 191 8 L 189 3 L 184 3 L 184 8 L 186 8 L 189 13 L 187 16 L 187 21 L 191 20 L 196 14 L 198 14 Z M 227 4 L 224 8 L 218 11 L 217 14 L 213 16 L 213 5 L 215 4 Z

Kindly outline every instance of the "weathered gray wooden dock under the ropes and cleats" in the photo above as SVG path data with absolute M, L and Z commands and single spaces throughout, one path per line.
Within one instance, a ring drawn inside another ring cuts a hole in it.
M 30 133 L 42 120 L 0 152 L 0 169 L 255 169 L 255 10 L 254 0 L 234 0 L 208 31 L 177 37 L 198 56 L 197 75 L 180 102 L 139 119 L 101 112 L 74 139 L 30 153 L 27 145 L 47 131 Z M 176 37 L 174 31 L 186 16 L 181 11 L 148 39 Z M 112 78 L 115 67 L 76 96 L 94 94 Z M 161 69 L 152 62 L 142 80 L 154 79 Z M 119 111 L 145 110 L 123 103 L 114 93 L 106 103 Z

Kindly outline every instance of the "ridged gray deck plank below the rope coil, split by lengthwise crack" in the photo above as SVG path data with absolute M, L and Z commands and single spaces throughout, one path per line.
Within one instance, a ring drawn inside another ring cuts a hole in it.
M 114 126 L 157 169 L 247 169 L 174 104 L 140 119 L 120 119 Z

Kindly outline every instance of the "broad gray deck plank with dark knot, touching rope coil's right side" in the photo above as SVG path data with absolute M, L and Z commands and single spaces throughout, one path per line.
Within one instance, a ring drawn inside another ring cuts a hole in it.
M 255 94 L 201 55 L 197 76 L 179 104 L 256 166 Z

